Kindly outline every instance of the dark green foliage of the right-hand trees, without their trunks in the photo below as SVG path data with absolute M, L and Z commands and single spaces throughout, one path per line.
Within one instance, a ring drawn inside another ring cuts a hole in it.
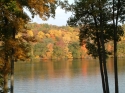
M 98 56 L 97 52 L 97 33 L 98 37 L 101 39 L 101 30 L 103 30 L 103 39 L 104 43 L 107 43 L 114 39 L 114 26 L 109 24 L 111 21 L 110 15 L 111 11 L 109 8 L 109 2 L 104 0 L 101 2 L 100 10 L 99 1 L 95 2 L 94 0 L 90 1 L 76 1 L 72 6 L 72 11 L 74 13 L 68 20 L 68 25 L 70 26 L 79 26 L 80 27 L 80 44 L 86 43 L 86 48 L 88 49 L 88 54 L 93 55 L 94 57 Z M 84 6 L 83 6 L 84 5 Z M 107 11 L 105 11 L 107 10 Z M 102 15 L 101 15 L 101 14 Z M 101 16 L 100 16 L 101 15 Z M 100 20 L 103 20 L 102 22 Z M 123 29 L 121 26 L 118 26 L 117 41 L 120 40 L 120 36 L 123 35 Z M 94 54 L 96 53 L 96 54 Z M 105 50 L 105 53 L 109 53 Z

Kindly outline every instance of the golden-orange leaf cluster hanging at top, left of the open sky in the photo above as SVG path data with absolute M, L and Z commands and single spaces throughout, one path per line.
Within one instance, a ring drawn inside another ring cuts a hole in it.
M 51 5 L 54 3 L 55 0 L 28 0 L 33 16 L 38 14 L 43 20 L 46 20 L 52 13 L 52 8 L 54 7 L 51 7 Z

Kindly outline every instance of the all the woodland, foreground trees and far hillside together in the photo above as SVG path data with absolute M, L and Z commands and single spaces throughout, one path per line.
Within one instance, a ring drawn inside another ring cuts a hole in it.
M 30 23 L 55 17 L 60 6 L 72 12 L 68 26 Z M 106 58 L 113 57 L 115 93 L 119 93 L 117 57 L 125 56 L 125 0 L 1 0 L 0 92 L 14 93 L 14 62 L 32 59 L 98 58 L 103 93 L 109 92 Z M 10 88 L 8 89 L 8 78 Z

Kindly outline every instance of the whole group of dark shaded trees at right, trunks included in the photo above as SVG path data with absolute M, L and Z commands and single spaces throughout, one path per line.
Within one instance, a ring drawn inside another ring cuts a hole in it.
M 67 3 L 67 2 L 65 2 Z M 119 22 L 124 22 L 124 0 L 77 0 L 72 5 L 73 16 L 68 20 L 70 26 L 80 26 L 80 43 L 86 44 L 88 54 L 99 57 L 103 92 L 109 93 L 105 43 L 114 40 L 114 69 L 117 78 L 117 43 L 123 36 Z M 67 6 L 65 6 L 67 7 Z M 115 79 L 118 93 L 118 78 Z

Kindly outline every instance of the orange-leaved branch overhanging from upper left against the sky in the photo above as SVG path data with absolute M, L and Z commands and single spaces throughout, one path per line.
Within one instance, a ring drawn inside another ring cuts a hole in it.
M 22 4 L 22 7 L 27 8 L 33 16 L 38 14 L 43 20 L 55 16 L 55 0 L 19 0 L 19 3 Z

